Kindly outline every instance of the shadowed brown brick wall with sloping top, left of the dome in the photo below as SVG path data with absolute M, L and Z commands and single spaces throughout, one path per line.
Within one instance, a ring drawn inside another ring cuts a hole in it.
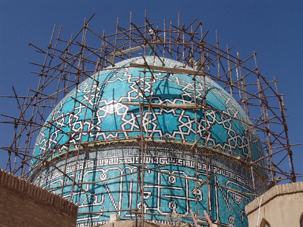
M 0 169 L 0 226 L 76 226 L 74 203 Z

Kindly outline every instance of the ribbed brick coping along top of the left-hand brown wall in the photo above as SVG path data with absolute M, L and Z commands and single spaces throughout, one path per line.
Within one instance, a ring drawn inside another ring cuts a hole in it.
M 78 206 L 73 202 L 18 176 L 14 176 L 3 169 L 0 169 L 0 189 L 12 190 L 37 203 L 53 207 L 68 215 L 77 215 L 78 212 Z

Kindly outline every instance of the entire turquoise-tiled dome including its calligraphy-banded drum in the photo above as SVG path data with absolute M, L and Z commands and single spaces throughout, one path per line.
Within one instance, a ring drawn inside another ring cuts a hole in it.
M 162 67 L 153 56 L 145 61 Z M 163 61 L 165 67 L 182 71 L 181 63 Z M 133 212 L 141 206 L 140 99 L 145 103 L 142 131 L 148 168 L 144 167 L 144 220 L 166 223 L 169 213 L 188 218 L 190 209 L 203 211 L 210 204 L 215 220 L 247 226 L 244 207 L 266 182 L 260 169 L 243 163 L 258 160 L 263 149 L 256 130 L 247 128 L 250 122 L 242 108 L 207 76 L 158 70 L 146 73 L 144 80 L 143 69 L 132 64 L 144 60 L 128 59 L 97 72 L 57 104 L 38 134 L 33 155 L 39 158 L 33 159 L 37 168 L 31 181 L 78 203 L 78 226 L 107 223 L 110 214 L 136 218 Z M 207 111 L 192 108 L 195 102 L 203 103 L 205 95 Z M 192 155 L 196 141 L 199 155 Z M 39 165 L 43 159 L 49 161 Z M 208 174 L 214 174 L 209 185 L 196 189 Z M 85 192 L 78 185 L 72 189 L 74 177 Z

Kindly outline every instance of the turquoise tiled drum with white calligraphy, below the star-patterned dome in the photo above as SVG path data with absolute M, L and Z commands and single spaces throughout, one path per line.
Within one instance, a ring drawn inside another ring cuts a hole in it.
M 160 168 L 161 171 L 181 177 L 160 174 L 154 171 L 145 172 L 144 187 L 144 212 L 153 214 L 168 214 L 176 212 L 190 215 L 189 208 L 199 211 L 207 209 L 207 185 L 202 186 L 197 192 L 193 191 L 196 187 L 195 176 L 195 156 L 187 155 L 190 146 L 177 144 L 150 143 L 147 152 L 146 166 L 152 168 L 157 165 L 172 164 Z M 180 152 L 183 153 L 166 153 Z M 197 161 L 198 180 L 206 179 L 206 155 L 200 148 L 201 153 Z M 57 167 L 64 169 L 65 155 L 57 157 Z M 95 184 L 84 184 L 83 188 L 87 193 L 81 192 L 76 187 L 74 202 L 80 197 L 79 212 L 88 211 L 108 211 L 108 210 L 127 210 L 141 206 L 140 196 L 136 200 L 137 191 L 137 168 L 129 165 L 138 163 L 138 150 L 136 143 L 121 143 L 104 146 L 96 146 L 89 152 L 81 151 L 76 175 L 77 182 L 102 181 L 107 178 L 130 174 L 114 180 L 99 182 Z M 85 171 L 83 166 L 85 160 Z M 67 174 L 72 177 L 74 171 L 75 154 L 71 153 L 67 159 Z M 221 185 L 246 193 L 254 193 L 250 168 L 228 158 L 222 154 L 215 154 L 209 159 L 209 174 L 220 169 L 215 178 L 210 181 L 213 185 Z M 158 170 L 160 170 L 158 169 Z M 83 174 L 83 175 L 82 175 Z M 257 178 L 257 176 L 256 176 Z M 63 176 L 52 165 L 45 166 L 42 173 L 37 173 L 34 182 L 43 188 L 62 193 Z M 65 185 L 71 181 L 65 178 Z M 262 180 L 256 179 L 257 190 L 263 190 Z M 247 218 L 244 206 L 254 198 L 233 191 L 210 185 L 210 213 L 214 219 L 230 226 L 247 226 Z M 59 187 L 59 188 L 56 188 Z M 71 186 L 65 187 L 64 197 L 70 198 Z M 106 223 L 109 220 L 109 213 L 79 214 L 78 226 L 93 226 Z M 133 219 L 135 216 L 131 211 L 117 212 L 121 219 Z M 146 215 L 145 219 L 165 223 L 165 216 Z M 191 222 L 191 219 L 184 221 Z

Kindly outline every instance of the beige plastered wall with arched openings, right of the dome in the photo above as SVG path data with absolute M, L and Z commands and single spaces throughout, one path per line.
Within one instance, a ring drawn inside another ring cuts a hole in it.
M 249 227 L 257 226 L 260 200 L 261 196 L 245 207 Z M 300 227 L 302 213 L 303 182 L 278 185 L 263 194 L 258 227 L 266 221 L 271 227 Z

